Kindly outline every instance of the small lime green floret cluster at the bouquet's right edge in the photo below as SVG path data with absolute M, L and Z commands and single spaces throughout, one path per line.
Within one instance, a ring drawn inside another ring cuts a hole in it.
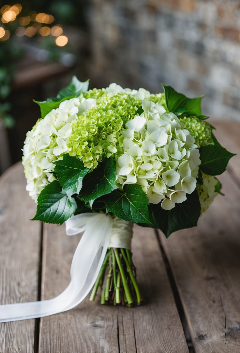
M 211 127 L 208 122 L 191 116 L 189 118 L 180 118 L 179 120 L 183 124 L 183 128 L 187 129 L 190 135 L 194 137 L 198 148 L 213 144 Z

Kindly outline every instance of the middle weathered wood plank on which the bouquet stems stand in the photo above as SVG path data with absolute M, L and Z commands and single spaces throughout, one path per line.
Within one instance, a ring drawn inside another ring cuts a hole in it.
M 43 298 L 68 285 L 72 255 L 79 236 L 67 237 L 64 226 L 45 226 Z M 136 308 L 90 303 L 42 318 L 39 352 L 187 353 L 188 347 L 153 230 L 135 227 L 134 261 L 145 304 Z

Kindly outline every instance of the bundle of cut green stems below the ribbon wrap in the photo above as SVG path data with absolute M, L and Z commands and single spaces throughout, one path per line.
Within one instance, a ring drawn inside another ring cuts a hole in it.
M 132 254 L 128 249 L 108 249 L 90 296 L 91 301 L 94 301 L 99 287 L 101 304 L 134 306 L 141 303 Z

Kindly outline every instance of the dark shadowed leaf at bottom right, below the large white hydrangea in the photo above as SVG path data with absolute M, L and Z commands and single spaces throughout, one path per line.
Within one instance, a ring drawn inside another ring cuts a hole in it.
M 150 204 L 149 213 L 153 227 L 161 229 L 166 238 L 180 229 L 195 227 L 201 214 L 197 191 L 187 195 L 186 201 L 176 203 L 171 210 L 164 210 L 160 204 Z

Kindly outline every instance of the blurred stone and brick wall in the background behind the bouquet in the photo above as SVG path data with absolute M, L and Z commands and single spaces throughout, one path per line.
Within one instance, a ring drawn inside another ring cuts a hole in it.
M 205 114 L 240 120 L 240 1 L 92 0 L 92 85 L 117 82 L 193 97 Z

